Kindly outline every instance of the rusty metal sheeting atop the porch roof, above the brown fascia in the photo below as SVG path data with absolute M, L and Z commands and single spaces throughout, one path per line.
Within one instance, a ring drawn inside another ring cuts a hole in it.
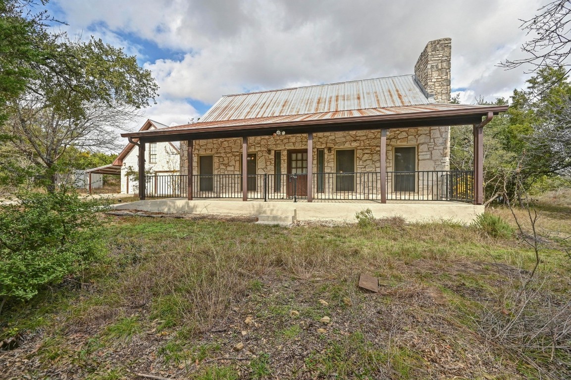
M 264 118 L 252 119 L 238 119 L 238 120 L 218 120 L 214 122 L 203 122 L 200 120 L 198 123 L 185 124 L 182 126 L 173 126 L 168 128 L 161 128 L 161 131 L 192 131 L 202 128 L 213 127 L 228 127 L 228 126 L 251 126 L 259 124 L 274 124 L 274 123 L 296 123 L 296 122 L 311 122 L 311 120 L 335 120 L 343 118 L 356 118 L 360 116 L 388 116 L 388 115 L 403 115 L 403 114 L 423 114 L 424 112 L 436 111 L 469 111 L 480 108 L 489 108 L 489 106 L 479 106 L 476 104 L 451 104 L 451 103 L 432 103 L 423 104 L 419 106 L 402 106 L 402 107 L 383 107 L 383 108 L 368 108 L 363 110 L 348 110 L 348 111 L 335 111 L 335 112 L 317 112 L 314 114 L 304 115 L 286 115 L 286 116 L 268 116 Z M 152 130 L 145 131 L 155 132 Z M 152 133 L 156 134 L 156 133 Z

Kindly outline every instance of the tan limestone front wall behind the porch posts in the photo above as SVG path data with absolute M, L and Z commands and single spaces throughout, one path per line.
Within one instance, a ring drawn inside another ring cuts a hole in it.
M 387 171 L 393 171 L 394 147 L 416 147 L 416 169 L 418 171 L 443 171 L 449 169 L 448 135 L 441 128 L 411 128 L 389 130 L 387 134 Z M 287 172 L 288 149 L 307 149 L 307 135 L 262 136 L 248 138 L 248 153 L 256 153 L 256 173 L 275 174 L 275 151 L 281 151 L 282 173 Z M 324 149 L 324 172 L 334 173 L 335 151 L 355 149 L 355 171 L 359 173 L 380 172 L 380 131 L 328 132 L 313 135 L 313 172 L 317 173 L 317 149 Z M 214 156 L 214 173 L 239 175 L 242 139 L 197 140 L 194 142 L 193 172 L 199 174 L 198 157 Z M 186 142 L 181 142 L 180 173 L 187 173 L 188 157 Z M 380 178 L 377 176 L 356 177 L 356 188 L 365 186 L 378 190 Z M 215 192 L 239 192 L 238 177 L 226 180 L 225 188 Z M 259 184 L 261 186 L 261 184 Z M 389 189 L 392 187 L 389 175 Z M 258 189 L 261 191 L 261 189 Z M 436 191 L 436 190 L 435 190 Z M 432 193 L 432 189 L 430 191 Z

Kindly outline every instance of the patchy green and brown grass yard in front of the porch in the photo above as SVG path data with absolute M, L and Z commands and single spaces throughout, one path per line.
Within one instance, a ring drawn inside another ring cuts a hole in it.
M 571 218 L 561 215 L 570 208 L 540 207 L 542 232 L 571 232 Z M 491 215 L 513 228 L 509 210 Z M 94 379 L 140 368 L 195 379 L 517 379 L 539 373 L 530 372 L 528 351 L 510 346 L 513 341 L 486 340 L 482 330 L 488 320 L 498 321 L 489 332 L 513 316 L 519 276 L 534 265 L 532 250 L 513 234 L 453 223 L 361 224 L 283 229 L 110 218 L 107 257 L 86 271 L 87 288 L 64 284 L 7 308 L 3 336 L 35 334 L 22 353 L 42 363 L 9 375 L 70 366 Z M 497 263 L 512 272 L 498 273 Z M 565 305 L 570 264 L 561 252 L 542 253 L 538 282 L 530 286 L 551 305 Z M 363 293 L 356 287 L 360 273 L 389 281 L 380 294 Z M 440 290 L 444 305 L 435 304 L 430 287 Z M 544 310 L 531 304 L 536 309 L 526 313 Z M 331 323 L 320 322 L 323 316 Z M 238 343 L 244 347 L 235 349 Z M 14 360 L 12 352 L 0 353 L 0 363 Z M 551 352 L 532 354 L 549 378 Z M 569 359 L 564 351 L 555 355 L 562 363 Z M 10 378 L 3 371 L 0 366 L 0 377 Z

